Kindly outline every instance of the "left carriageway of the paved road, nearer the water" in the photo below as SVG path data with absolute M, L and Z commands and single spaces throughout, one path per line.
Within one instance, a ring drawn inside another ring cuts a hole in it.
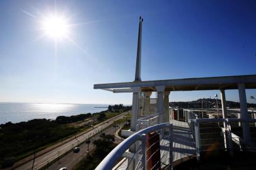
M 40 169 L 41 167 L 47 165 L 47 162 L 53 161 L 58 156 L 65 154 L 68 150 L 73 149 L 74 146 L 78 144 L 78 142 L 84 142 L 84 140 L 88 139 L 88 137 L 91 137 L 96 133 L 100 132 L 102 129 L 108 127 L 108 125 L 112 124 L 114 121 L 119 120 L 120 118 L 123 118 L 127 113 L 129 113 L 129 111 L 122 113 L 118 116 L 115 116 L 115 118 L 112 118 L 106 121 L 102 125 L 94 128 L 93 130 L 90 130 L 90 132 L 84 133 L 83 135 L 77 137 L 76 139 L 73 139 L 59 147 L 56 147 L 55 149 L 50 150 L 49 152 L 43 154 L 42 156 L 36 157 L 35 163 L 34 163 L 34 169 Z M 21 165 L 20 167 L 16 167 L 15 169 L 30 170 L 32 169 L 32 164 L 33 164 L 33 160 L 28 161 L 25 164 Z

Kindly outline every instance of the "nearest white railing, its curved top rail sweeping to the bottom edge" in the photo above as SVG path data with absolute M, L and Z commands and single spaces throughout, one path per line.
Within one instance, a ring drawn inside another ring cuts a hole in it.
M 146 158 L 146 134 L 150 132 L 154 132 L 156 130 L 161 130 L 163 128 L 169 128 L 169 147 L 170 147 L 170 162 L 173 161 L 172 158 L 172 123 L 161 123 L 158 125 L 154 125 L 152 127 L 144 128 L 139 132 L 134 133 L 127 139 L 125 139 L 122 143 L 117 145 L 115 149 L 113 149 L 105 159 L 96 167 L 97 170 L 100 169 L 112 169 L 115 166 L 116 162 L 120 160 L 125 151 L 131 147 L 131 145 L 136 144 L 137 141 L 141 141 L 141 155 L 139 162 L 136 163 L 136 167 L 140 165 L 139 169 L 146 169 L 147 158 Z M 136 154 L 136 153 L 134 153 Z M 134 157 L 134 156 L 133 156 Z M 172 163 L 171 163 L 172 164 Z

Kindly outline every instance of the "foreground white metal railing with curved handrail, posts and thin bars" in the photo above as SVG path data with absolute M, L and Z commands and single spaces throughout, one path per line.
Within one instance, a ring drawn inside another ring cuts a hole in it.
M 150 132 L 155 132 L 156 130 L 161 130 L 164 128 L 168 128 L 168 131 L 169 131 L 168 135 L 163 137 L 163 139 L 168 139 L 168 144 L 165 144 L 165 145 L 168 145 L 168 147 L 169 147 L 168 167 L 169 167 L 169 169 L 172 169 L 172 162 L 173 162 L 172 123 L 161 123 L 161 124 L 154 125 L 154 126 L 151 126 L 148 128 L 144 128 L 143 130 L 140 130 L 139 132 L 134 133 L 133 135 L 131 135 L 130 137 L 125 139 L 122 143 L 117 145 L 117 147 L 115 147 L 115 149 L 113 149 L 107 155 L 107 157 L 105 157 L 105 159 L 103 159 L 103 161 L 100 162 L 100 164 L 96 167 L 96 169 L 98 169 L 98 170 L 99 169 L 112 169 L 115 166 L 115 164 L 117 163 L 117 161 L 120 160 L 120 158 L 126 157 L 126 156 L 129 157 L 127 169 L 128 168 L 131 169 L 131 164 L 133 164 L 134 162 L 135 162 L 135 164 L 132 165 L 133 166 L 132 169 L 147 169 L 147 164 L 150 159 L 150 158 L 148 158 L 147 151 L 148 151 L 149 147 L 151 147 L 152 145 L 147 147 L 147 140 L 149 140 L 149 139 L 147 139 L 146 134 L 150 133 Z M 160 142 L 160 141 L 158 141 L 158 142 Z M 137 144 L 139 143 L 139 145 L 137 145 L 136 150 L 134 150 L 134 153 L 127 152 L 127 150 L 132 145 L 136 145 L 136 143 Z M 161 149 L 161 147 L 160 147 L 160 149 Z M 159 161 L 161 162 L 161 160 L 159 160 Z

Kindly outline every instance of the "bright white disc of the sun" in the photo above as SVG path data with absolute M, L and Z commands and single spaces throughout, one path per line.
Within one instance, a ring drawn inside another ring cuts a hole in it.
M 49 16 L 43 21 L 43 30 L 50 38 L 66 37 L 68 28 L 66 18 L 61 16 Z

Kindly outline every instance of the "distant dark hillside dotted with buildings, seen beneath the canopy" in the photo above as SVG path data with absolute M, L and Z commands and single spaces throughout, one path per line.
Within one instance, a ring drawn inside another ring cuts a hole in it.
M 169 103 L 171 107 L 180 108 L 215 108 L 216 107 L 216 99 L 197 99 L 195 101 L 172 101 Z M 219 108 L 221 108 L 221 99 L 218 99 Z M 235 101 L 226 101 L 226 105 L 229 108 L 240 108 L 240 103 Z M 247 103 L 248 108 L 256 108 L 256 104 Z

